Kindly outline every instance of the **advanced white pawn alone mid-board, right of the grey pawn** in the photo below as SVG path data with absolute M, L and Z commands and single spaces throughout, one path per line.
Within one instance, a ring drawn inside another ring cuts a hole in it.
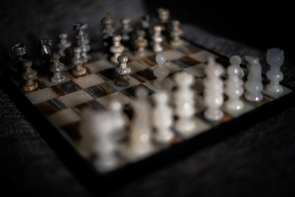
M 153 85 L 157 88 L 163 88 L 163 81 L 169 74 L 169 69 L 166 66 L 167 57 L 164 53 L 160 53 L 156 56 L 156 62 L 158 65 L 154 68 L 153 73 L 157 77 Z

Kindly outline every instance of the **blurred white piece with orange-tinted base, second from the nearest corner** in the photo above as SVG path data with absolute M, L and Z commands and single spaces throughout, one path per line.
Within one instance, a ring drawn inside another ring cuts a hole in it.
M 136 92 L 137 99 L 132 103 L 133 118 L 130 124 L 130 146 L 136 155 L 148 154 L 152 149 L 150 127 L 150 104 L 145 89 L 139 88 Z

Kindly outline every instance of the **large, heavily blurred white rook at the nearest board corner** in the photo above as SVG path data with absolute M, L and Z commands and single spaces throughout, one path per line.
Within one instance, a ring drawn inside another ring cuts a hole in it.
M 115 155 L 116 143 L 112 140 L 113 126 L 110 114 L 83 111 L 80 147 L 87 157 L 92 158 L 96 155 L 93 164 L 101 171 L 114 170 L 119 165 L 119 159 Z

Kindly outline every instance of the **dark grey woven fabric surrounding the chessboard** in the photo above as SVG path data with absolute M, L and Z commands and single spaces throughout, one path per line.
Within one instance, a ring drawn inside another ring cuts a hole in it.
M 123 17 L 132 18 L 135 24 L 139 14 L 155 14 L 157 7 L 164 6 L 171 7 L 171 16 L 180 19 L 183 37 L 225 57 L 240 55 L 245 64 L 243 57 L 250 49 L 261 50 L 263 73 L 268 70 L 266 49 L 282 47 L 286 53 L 281 68 L 283 82 L 294 88 L 291 31 L 289 26 L 269 21 L 277 16 L 275 22 L 280 19 L 291 22 L 289 6 L 272 5 L 266 9 L 235 5 L 233 9 L 227 4 L 212 2 L 196 6 L 165 3 L 136 0 L 2 2 L 1 68 L 11 65 L 14 57 L 10 46 L 17 42 L 27 45 L 25 58 L 37 62 L 41 38 L 51 38 L 55 47 L 58 34 L 67 32 L 73 42 L 73 24 L 84 21 L 89 26 L 86 32 L 91 49 L 96 50 L 101 40 L 100 21 L 107 12 L 115 19 L 114 26 L 119 27 L 119 19 Z M 220 28 L 222 24 L 224 28 Z M 281 31 L 276 26 L 280 26 Z M 0 180 L 3 193 L 8 192 L 4 196 L 94 196 L 15 106 L 3 90 L 4 85 L 0 86 Z M 267 116 L 189 156 L 95 196 L 294 196 L 294 120 L 293 104 L 290 109 Z

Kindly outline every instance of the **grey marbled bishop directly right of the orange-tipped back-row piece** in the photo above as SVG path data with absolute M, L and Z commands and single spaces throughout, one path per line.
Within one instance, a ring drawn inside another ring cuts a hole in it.
M 122 25 L 122 27 L 119 29 L 119 32 L 122 37 L 121 43 L 126 48 L 126 50 L 129 50 L 131 48 L 131 37 L 133 31 L 133 28 L 130 25 L 131 19 L 123 18 L 120 22 Z

